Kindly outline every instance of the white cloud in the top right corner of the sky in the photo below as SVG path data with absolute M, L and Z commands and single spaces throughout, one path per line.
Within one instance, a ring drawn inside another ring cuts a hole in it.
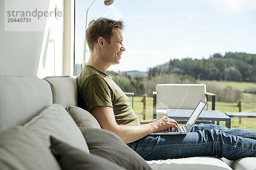
M 210 0 L 228 14 L 236 14 L 243 11 L 249 11 L 256 9 L 255 0 Z

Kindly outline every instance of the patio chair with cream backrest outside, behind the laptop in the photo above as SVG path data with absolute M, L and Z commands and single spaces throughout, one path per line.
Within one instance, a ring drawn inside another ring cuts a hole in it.
M 205 84 L 157 84 L 153 91 L 153 119 L 157 118 L 157 109 L 195 109 L 200 99 L 207 101 L 207 96 L 212 96 L 215 110 L 215 94 L 206 92 Z

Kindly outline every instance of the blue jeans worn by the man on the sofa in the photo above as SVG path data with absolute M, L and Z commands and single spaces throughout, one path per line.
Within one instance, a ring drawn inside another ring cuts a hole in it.
M 148 135 L 127 145 L 147 161 L 193 156 L 235 160 L 256 157 L 256 131 L 199 124 L 187 135 Z

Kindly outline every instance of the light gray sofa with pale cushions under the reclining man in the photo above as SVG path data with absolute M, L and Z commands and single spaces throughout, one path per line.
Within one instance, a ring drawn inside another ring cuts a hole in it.
M 77 106 L 74 77 L 0 76 L 0 169 L 59 170 L 49 150 L 50 135 L 89 153 L 79 127 L 65 113 L 71 105 Z M 147 163 L 154 170 L 256 170 L 256 158 L 223 160 L 192 157 Z

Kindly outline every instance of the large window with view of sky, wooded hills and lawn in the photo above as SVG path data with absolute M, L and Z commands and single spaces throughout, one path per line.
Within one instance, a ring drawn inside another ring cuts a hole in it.
M 75 63 L 81 72 L 84 17 L 90 2 L 76 0 Z M 152 119 L 152 91 L 161 83 L 204 83 L 216 95 L 215 110 L 256 112 L 256 2 L 96 0 L 87 24 L 96 18 L 122 19 L 126 51 L 108 73 L 126 92 L 134 92 L 134 111 Z M 85 63 L 90 57 L 86 47 Z M 175 96 L 170 96 L 175 97 Z M 239 102 L 240 101 L 240 102 Z M 211 98 L 208 99 L 211 110 Z M 242 113 L 241 113 L 242 114 Z M 246 113 L 244 113 L 246 114 Z M 231 118 L 231 127 L 254 129 L 256 118 Z M 221 122 L 224 125 L 224 122 Z

